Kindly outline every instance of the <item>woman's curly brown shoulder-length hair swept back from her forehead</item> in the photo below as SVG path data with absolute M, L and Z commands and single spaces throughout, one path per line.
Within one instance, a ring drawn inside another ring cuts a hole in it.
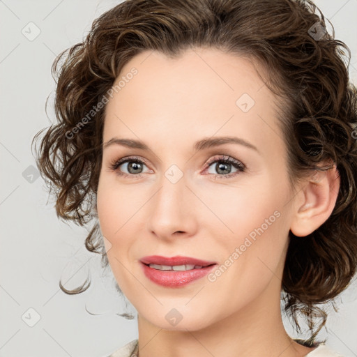
M 328 220 L 305 237 L 289 232 L 284 311 L 300 331 L 297 314 L 305 316 L 311 332 L 305 342 L 312 344 L 326 323 L 317 304 L 333 303 L 357 266 L 357 91 L 349 82 L 349 47 L 332 30 L 326 31 L 324 15 L 310 0 L 127 0 L 100 15 L 83 42 L 52 65 L 58 122 L 40 140 L 36 162 L 54 190 L 57 216 L 81 226 L 98 218 L 103 102 L 133 56 L 156 50 L 174 58 L 189 47 L 215 47 L 257 60 L 266 70 L 264 82 L 282 98 L 278 119 L 292 185 L 312 169 L 331 168 L 321 162 L 334 162 L 340 174 Z M 104 267 L 108 260 L 95 221 L 85 245 L 102 254 Z M 78 294 L 89 285 L 60 287 Z M 313 331 L 315 318 L 322 321 Z

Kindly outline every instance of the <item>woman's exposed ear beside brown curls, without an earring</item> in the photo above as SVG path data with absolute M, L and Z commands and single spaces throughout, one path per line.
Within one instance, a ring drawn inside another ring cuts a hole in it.
M 295 236 L 307 236 L 330 217 L 340 190 L 340 174 L 333 165 L 326 171 L 315 170 L 302 183 L 296 195 L 290 230 Z

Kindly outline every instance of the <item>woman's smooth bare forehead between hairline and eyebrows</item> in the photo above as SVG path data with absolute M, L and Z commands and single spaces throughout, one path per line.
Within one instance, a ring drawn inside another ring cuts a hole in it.
M 276 144 L 276 99 L 256 68 L 260 72 L 248 59 L 213 49 L 186 50 L 175 59 L 142 52 L 114 82 L 118 90 L 107 103 L 104 141 L 114 134 L 170 144 L 183 137 L 194 142 L 239 135 L 256 146 Z

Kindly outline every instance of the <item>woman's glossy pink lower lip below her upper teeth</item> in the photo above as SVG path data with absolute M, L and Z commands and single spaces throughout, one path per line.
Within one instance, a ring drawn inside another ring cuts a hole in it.
M 163 287 L 183 287 L 194 280 L 203 278 L 216 266 L 214 264 L 200 269 L 191 269 L 190 271 L 159 271 L 143 263 L 141 264 L 146 277 Z

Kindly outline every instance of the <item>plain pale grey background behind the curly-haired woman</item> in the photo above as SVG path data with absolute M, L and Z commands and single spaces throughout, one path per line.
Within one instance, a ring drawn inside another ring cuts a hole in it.
M 0 357 L 99 357 L 137 338 L 136 318 L 118 315 L 135 309 L 116 293 L 100 257 L 86 252 L 86 231 L 56 218 L 31 153 L 33 135 L 54 119 L 52 61 L 119 2 L 0 0 Z M 316 3 L 351 49 L 356 85 L 357 0 Z M 83 294 L 59 289 L 61 276 L 70 289 L 88 275 L 92 284 Z M 319 338 L 328 337 L 328 346 L 346 357 L 357 356 L 357 284 L 336 301 L 340 310 L 329 309 Z M 284 324 L 298 337 L 287 319 Z

